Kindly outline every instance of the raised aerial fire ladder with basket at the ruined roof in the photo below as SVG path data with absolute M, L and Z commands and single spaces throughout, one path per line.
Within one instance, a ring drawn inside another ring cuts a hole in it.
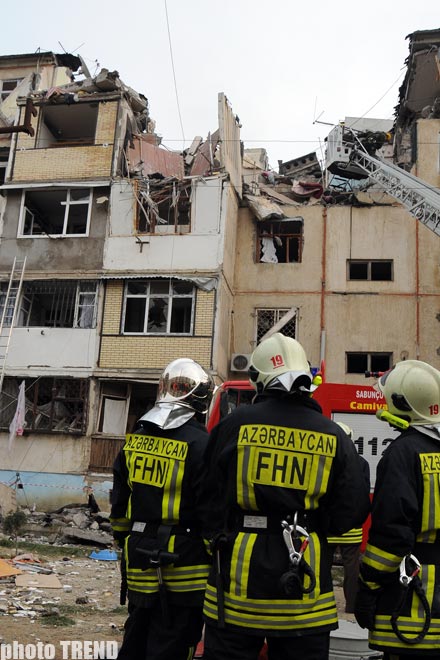
M 440 236 L 440 189 L 381 158 L 376 151 L 388 138 L 387 133 L 356 134 L 335 126 L 327 138 L 326 169 L 344 179 L 368 177 Z

